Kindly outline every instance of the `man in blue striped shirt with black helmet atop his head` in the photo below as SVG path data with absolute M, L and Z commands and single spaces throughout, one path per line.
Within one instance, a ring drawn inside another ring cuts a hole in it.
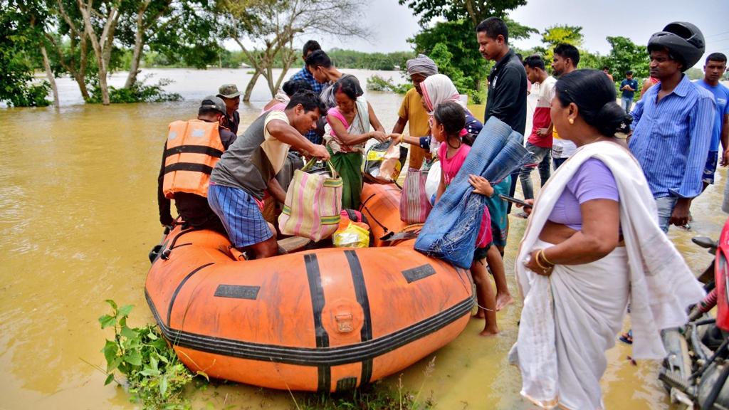
M 648 42 L 650 76 L 660 82 L 638 101 L 630 149 L 643 168 L 663 231 L 688 222 L 701 193 L 714 124 L 714 98 L 683 71 L 703 55 L 703 35 L 690 23 L 671 23 Z

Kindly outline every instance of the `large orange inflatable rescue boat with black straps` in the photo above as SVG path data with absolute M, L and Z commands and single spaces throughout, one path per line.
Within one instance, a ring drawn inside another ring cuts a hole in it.
M 219 379 L 335 392 L 401 371 L 455 339 L 474 298 L 467 271 L 413 250 L 399 196 L 365 185 L 364 249 L 240 262 L 219 233 L 178 226 L 149 269 L 149 309 L 184 364 Z

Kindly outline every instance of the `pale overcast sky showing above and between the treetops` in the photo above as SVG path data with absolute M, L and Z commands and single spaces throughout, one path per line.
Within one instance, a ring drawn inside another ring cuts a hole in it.
M 420 31 L 421 26 L 408 7 L 400 6 L 397 0 L 370 0 L 365 13 L 367 26 L 373 33 L 369 42 L 311 37 L 324 50 L 339 47 L 389 53 L 412 49 L 407 39 Z M 530 0 L 526 6 L 513 10 L 510 17 L 540 32 L 554 24 L 582 26 L 585 38 L 582 47 L 603 55 L 609 52 L 607 36 L 626 36 L 645 45 L 650 35 L 666 23 L 688 21 L 703 32 L 707 53 L 718 51 L 729 55 L 729 0 Z M 534 34 L 529 39 L 515 41 L 514 45 L 531 48 L 540 44 L 540 38 Z

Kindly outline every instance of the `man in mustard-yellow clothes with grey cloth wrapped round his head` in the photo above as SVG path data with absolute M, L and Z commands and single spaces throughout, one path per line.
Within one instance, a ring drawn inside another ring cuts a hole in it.
M 433 74 L 438 74 L 438 67 L 434 61 L 424 54 L 418 54 L 418 57 L 410 58 L 405 65 L 408 67 L 410 80 L 413 81 L 413 88 L 405 93 L 405 99 L 402 100 L 400 110 L 397 113 L 397 123 L 392 127 L 392 134 L 390 135 L 402 134 L 402 131 L 405 130 L 405 124 L 409 124 L 408 132 L 410 136 L 427 136 L 430 131 L 429 115 L 423 107 L 423 91 L 420 88 L 420 83 Z M 420 169 L 426 153 L 423 147 L 411 144 L 410 168 Z

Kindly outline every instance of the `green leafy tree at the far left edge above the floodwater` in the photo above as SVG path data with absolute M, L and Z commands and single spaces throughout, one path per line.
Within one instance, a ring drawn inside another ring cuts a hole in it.
M 48 83 L 33 84 L 28 55 L 36 51 L 38 27 L 15 1 L 0 1 L 0 101 L 13 107 L 47 106 Z

